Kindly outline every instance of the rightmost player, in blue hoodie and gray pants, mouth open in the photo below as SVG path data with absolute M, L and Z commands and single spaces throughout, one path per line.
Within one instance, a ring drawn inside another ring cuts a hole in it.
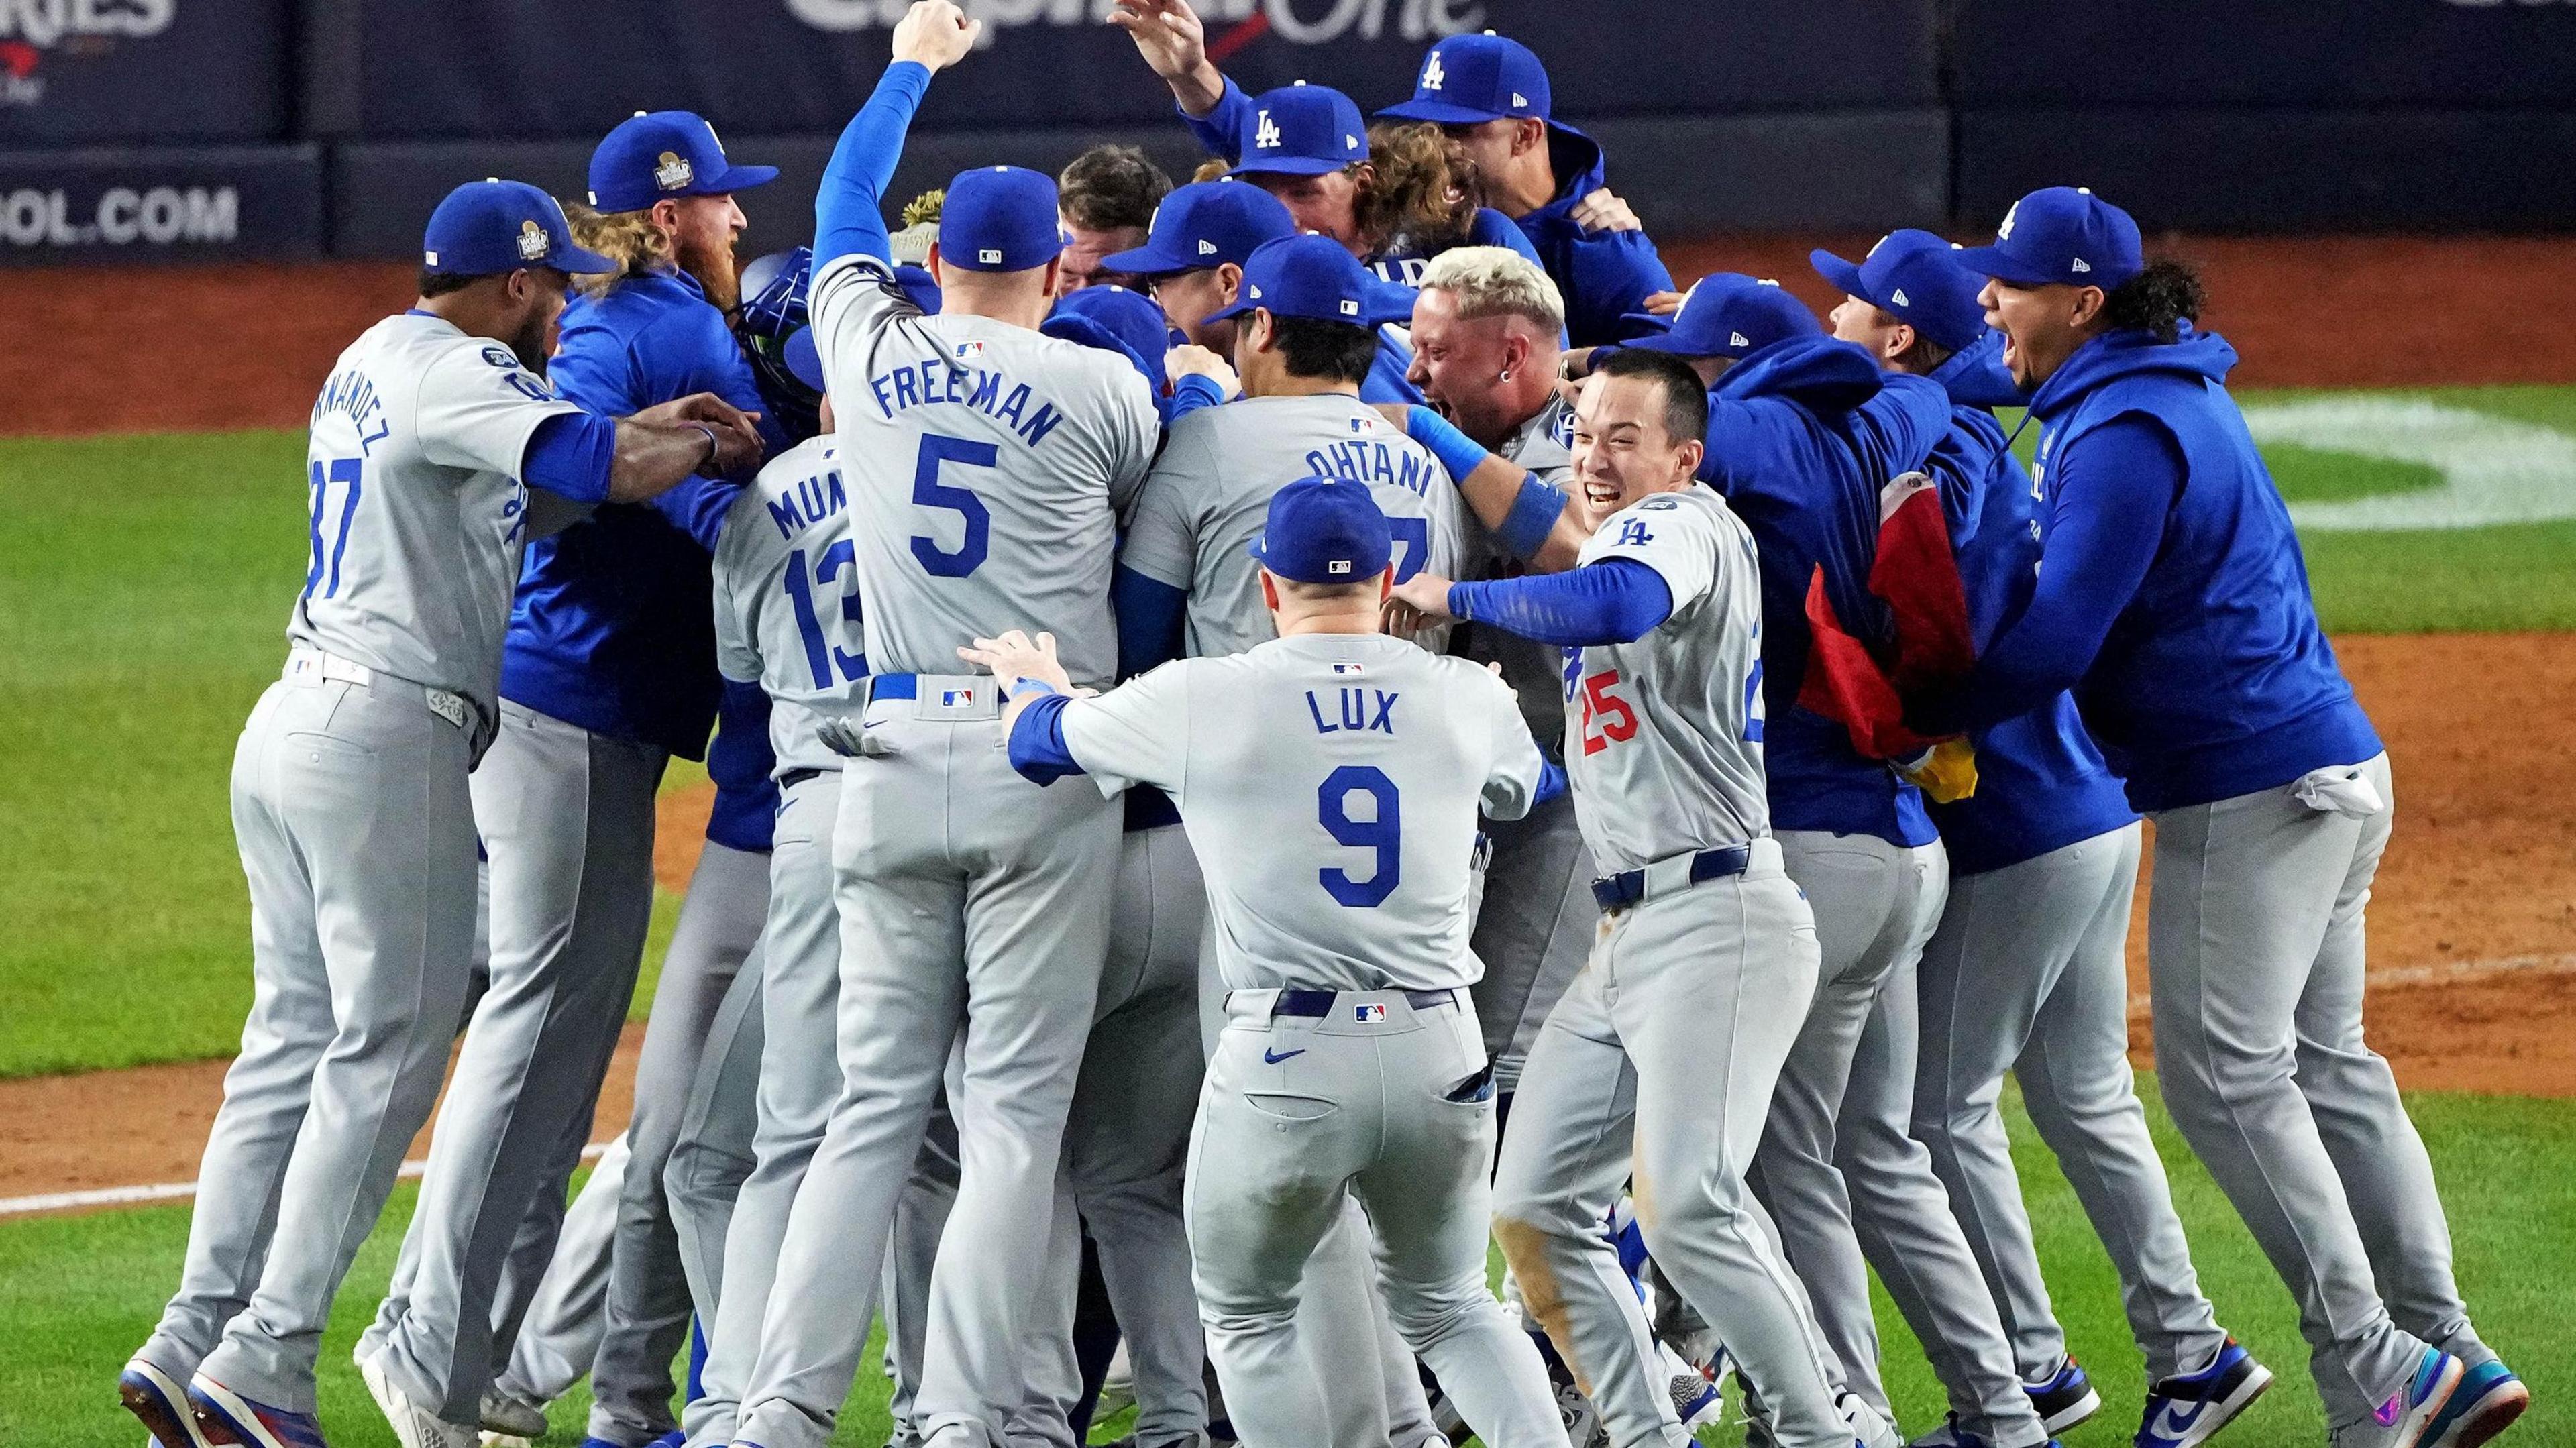
M 2192 330 L 2197 278 L 2148 265 L 2089 191 L 2025 196 L 1958 260 L 2038 386 L 2045 538 L 2030 608 L 1906 721 L 1986 727 L 2076 691 L 2156 822 L 2164 1100 L 2300 1304 L 2334 1443 L 2486 1443 L 2530 1391 L 2468 1322 L 2432 1162 L 2362 1038 L 2388 755 L 2226 397 L 2236 353 Z

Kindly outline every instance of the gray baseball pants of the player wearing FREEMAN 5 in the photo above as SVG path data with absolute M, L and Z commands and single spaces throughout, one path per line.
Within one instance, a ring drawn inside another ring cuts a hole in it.
M 863 755 L 842 770 L 842 1090 L 781 1237 L 778 1278 L 799 1291 L 770 1296 L 742 1394 L 737 1438 L 765 1448 L 822 1448 L 832 1433 L 866 1342 L 850 1304 L 876 1286 L 958 1028 L 961 1183 L 917 1409 L 933 1440 L 992 1445 L 1023 1396 L 1020 1337 L 1108 956 L 1121 819 L 1079 781 L 1036 788 L 1012 773 L 989 678 L 922 675 L 917 691 L 868 703 Z M 943 693 L 969 691 L 974 703 L 943 709 Z

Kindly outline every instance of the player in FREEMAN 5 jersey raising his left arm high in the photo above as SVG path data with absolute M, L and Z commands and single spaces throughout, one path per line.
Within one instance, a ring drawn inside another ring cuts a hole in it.
M 770 1299 L 742 1394 L 734 1440 L 762 1448 L 819 1448 L 832 1430 L 863 1342 L 848 1309 L 878 1275 L 961 1025 L 961 1185 L 917 1409 L 933 1440 L 999 1438 L 1108 951 L 1095 904 L 1118 812 L 1028 799 L 999 752 L 992 678 L 953 670 L 966 642 L 1036 618 L 1077 675 L 1113 678 L 1115 510 L 1151 461 L 1154 399 L 1126 361 L 1036 332 L 1059 255 L 1048 178 L 956 178 L 933 252 L 938 317 L 891 286 L 878 216 L 933 70 L 979 31 L 948 0 L 907 13 L 817 198 L 814 335 L 873 672 L 860 727 L 832 734 L 848 750 L 832 845 L 845 1080 L 778 1250 L 799 1291 Z

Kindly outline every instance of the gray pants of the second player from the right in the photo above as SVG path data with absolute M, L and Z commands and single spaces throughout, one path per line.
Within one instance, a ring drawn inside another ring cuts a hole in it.
M 2066 1329 L 2040 1278 L 1996 1105 L 2007 1069 L 2120 1273 L 2146 1376 L 2200 1368 L 2226 1345 L 2128 1069 L 2125 943 L 2138 840 L 2141 824 L 2123 824 L 1996 871 L 1950 876 L 1950 902 L 1917 971 L 1914 1139 L 1950 1188 L 2025 1381 L 2045 1381 L 2066 1363 Z M 1899 1306 L 1924 1319 L 1917 1304 Z M 1924 1350 L 1945 1384 L 1960 1381 L 1942 1366 L 1947 1348 L 1927 1337 Z

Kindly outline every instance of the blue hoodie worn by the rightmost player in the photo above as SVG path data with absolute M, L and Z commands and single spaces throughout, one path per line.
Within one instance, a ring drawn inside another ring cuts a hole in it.
M 2105 332 L 2030 399 L 2043 567 L 2030 605 L 1927 732 L 2074 688 L 2136 809 L 2277 788 L 2380 737 L 2316 626 L 2290 510 L 2226 392 L 2236 348 Z

